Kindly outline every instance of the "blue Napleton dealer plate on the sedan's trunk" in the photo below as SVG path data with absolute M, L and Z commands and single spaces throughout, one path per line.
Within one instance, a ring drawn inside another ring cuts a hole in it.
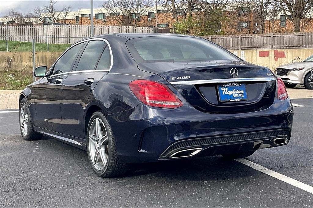
M 245 84 L 225 83 L 223 85 L 219 85 L 218 95 L 221 102 L 236 102 L 248 100 Z

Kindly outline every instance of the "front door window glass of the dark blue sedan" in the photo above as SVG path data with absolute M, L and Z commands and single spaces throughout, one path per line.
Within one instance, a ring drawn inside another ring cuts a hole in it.
M 52 74 L 60 74 L 71 71 L 74 59 L 80 52 L 83 45 L 83 43 L 80 43 L 65 52 L 61 56 L 61 58 L 55 63 Z

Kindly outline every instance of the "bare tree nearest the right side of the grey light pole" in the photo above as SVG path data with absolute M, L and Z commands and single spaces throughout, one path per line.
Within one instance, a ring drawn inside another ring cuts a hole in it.
M 125 25 L 123 16 L 128 16 L 131 26 L 136 26 L 138 19 L 151 10 L 152 0 L 105 0 L 101 7 L 105 8 L 117 22 Z M 102 13 L 103 10 L 99 8 Z

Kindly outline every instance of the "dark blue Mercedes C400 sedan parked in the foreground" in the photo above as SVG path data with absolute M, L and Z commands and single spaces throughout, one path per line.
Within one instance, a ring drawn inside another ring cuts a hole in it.
M 19 98 L 23 138 L 87 150 L 98 176 L 131 162 L 246 157 L 290 140 L 282 80 L 200 37 L 90 37 L 34 76 Z

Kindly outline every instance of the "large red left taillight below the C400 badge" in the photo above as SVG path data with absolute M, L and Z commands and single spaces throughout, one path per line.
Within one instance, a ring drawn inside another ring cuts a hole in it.
M 183 105 L 165 84 L 139 79 L 130 82 L 129 87 L 135 96 L 148 106 L 178 108 Z

